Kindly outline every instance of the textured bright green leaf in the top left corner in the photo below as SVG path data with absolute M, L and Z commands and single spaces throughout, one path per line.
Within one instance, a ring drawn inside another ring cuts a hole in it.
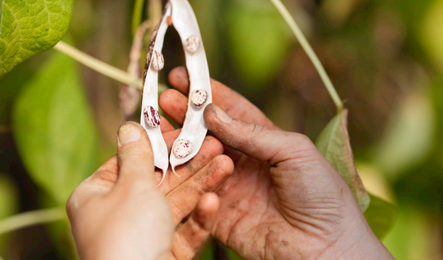
M 0 0 L 0 77 L 52 48 L 71 21 L 73 0 Z

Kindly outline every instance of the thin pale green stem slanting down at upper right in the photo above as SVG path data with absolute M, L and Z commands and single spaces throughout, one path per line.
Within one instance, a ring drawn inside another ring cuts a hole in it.
M 320 60 L 318 59 L 316 53 L 314 53 L 314 50 L 312 50 L 311 46 L 309 45 L 309 42 L 307 41 L 305 35 L 303 35 L 302 30 L 300 30 L 300 27 L 298 27 L 296 21 L 293 19 L 287 8 L 284 7 L 283 3 L 280 0 L 271 0 L 275 8 L 280 12 L 282 17 L 284 18 L 284 21 L 289 25 L 294 35 L 296 35 L 296 38 L 298 39 L 298 42 L 300 42 L 300 45 L 307 53 L 309 59 L 311 59 L 311 62 L 316 67 L 316 70 L 318 71 L 318 74 L 321 77 L 321 80 L 323 80 L 323 83 L 326 86 L 327 91 L 329 92 L 329 95 L 331 95 L 332 100 L 334 100 L 335 105 L 337 106 L 338 112 L 340 112 L 343 109 L 343 102 L 341 101 L 340 97 L 337 94 L 337 91 L 334 89 L 334 85 L 332 84 L 331 80 L 329 79 L 325 68 L 323 68 L 323 65 L 321 64 Z

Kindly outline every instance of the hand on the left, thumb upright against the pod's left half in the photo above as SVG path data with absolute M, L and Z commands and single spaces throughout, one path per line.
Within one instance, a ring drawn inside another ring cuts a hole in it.
M 179 133 L 162 122 L 171 147 Z M 118 154 L 84 180 L 66 206 L 80 259 L 192 259 L 219 208 L 218 197 L 204 193 L 217 189 L 233 170 L 222 152 L 215 138 L 206 138 L 201 154 L 177 169 L 183 177 L 168 171 L 159 189 L 161 173 L 154 173 L 145 130 L 135 122 L 123 124 Z

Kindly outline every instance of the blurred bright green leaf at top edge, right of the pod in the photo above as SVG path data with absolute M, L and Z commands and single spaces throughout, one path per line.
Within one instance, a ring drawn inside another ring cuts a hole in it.
M 281 68 L 292 35 L 269 0 L 235 1 L 226 12 L 228 50 L 246 82 L 263 86 Z

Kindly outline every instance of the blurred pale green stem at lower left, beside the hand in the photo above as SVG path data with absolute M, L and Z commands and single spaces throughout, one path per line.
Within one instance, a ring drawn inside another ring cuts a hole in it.
M 66 217 L 63 207 L 55 207 L 46 210 L 35 210 L 10 216 L 0 221 L 0 234 L 19 230 L 33 225 L 58 221 Z

